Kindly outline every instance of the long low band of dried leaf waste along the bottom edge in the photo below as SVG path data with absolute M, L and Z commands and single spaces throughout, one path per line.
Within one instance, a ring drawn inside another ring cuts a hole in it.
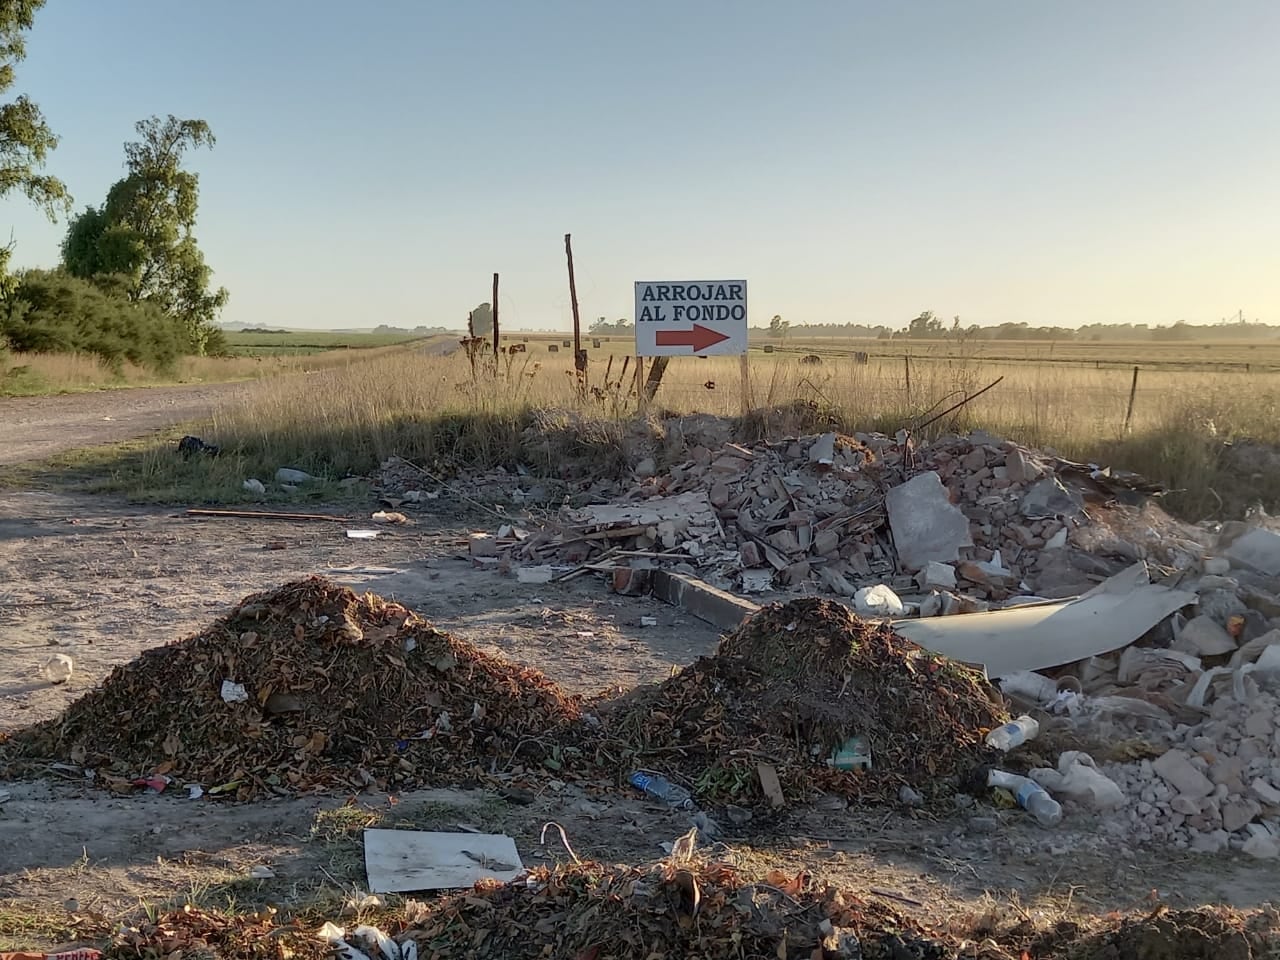
M 1144 916 L 968 929 L 931 910 L 905 915 L 877 895 L 774 872 L 753 881 L 717 863 L 535 868 L 364 922 L 227 915 L 186 908 L 122 924 L 105 960 L 228 956 L 252 960 L 426 960 L 698 956 L 806 960 L 1254 960 L 1280 948 L 1274 910 L 1156 909 Z

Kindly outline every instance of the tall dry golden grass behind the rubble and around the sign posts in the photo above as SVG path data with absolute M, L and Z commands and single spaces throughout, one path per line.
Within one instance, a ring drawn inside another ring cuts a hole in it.
M 180 465 L 159 451 L 147 461 L 146 483 L 169 489 L 174 471 L 198 470 L 234 498 L 244 476 L 270 476 L 279 466 L 337 479 L 367 474 L 392 454 L 443 472 L 522 462 L 556 474 L 575 457 L 608 467 L 637 412 L 632 370 L 625 380 L 620 371 L 617 358 L 612 369 L 593 361 L 585 397 L 571 360 L 553 356 L 504 357 L 497 367 L 490 360 L 472 370 L 461 355 L 399 351 L 307 376 L 271 376 L 201 428 L 223 447 L 220 461 Z M 765 436 L 819 424 L 849 433 L 915 429 L 997 378 L 997 387 L 916 434 L 980 428 L 1064 457 L 1135 470 L 1169 484 L 1170 503 L 1184 516 L 1224 516 L 1253 499 L 1270 507 L 1280 498 L 1280 476 L 1242 471 L 1228 445 L 1245 438 L 1280 444 L 1277 375 L 1143 372 L 1126 431 L 1125 370 L 961 358 L 913 364 L 908 384 L 901 362 L 805 365 L 753 355 L 749 399 L 756 413 L 745 426 Z M 673 361 L 645 412 L 741 415 L 739 361 Z M 534 433 L 556 434 L 556 444 L 530 442 L 535 420 Z

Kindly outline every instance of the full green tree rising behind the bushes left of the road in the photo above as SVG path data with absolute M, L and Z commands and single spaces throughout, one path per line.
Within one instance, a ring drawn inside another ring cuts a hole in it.
M 136 129 L 141 140 L 124 145 L 125 177 L 101 207 L 87 207 L 68 227 L 63 265 L 74 276 L 125 278 L 128 298 L 178 323 L 192 352 L 216 352 L 214 321 L 228 293 L 210 289 L 212 270 L 195 236 L 200 178 L 182 166 L 188 150 L 214 146 L 214 133 L 204 120 L 173 115 L 140 120 Z

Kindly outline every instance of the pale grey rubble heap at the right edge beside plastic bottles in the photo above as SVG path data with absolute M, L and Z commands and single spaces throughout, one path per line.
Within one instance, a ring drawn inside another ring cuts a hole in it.
M 1043 675 L 1001 681 L 1005 692 L 1094 741 L 1140 735 L 1149 755 L 1082 774 L 1117 837 L 1202 852 L 1280 858 L 1280 535 L 1222 525 L 1187 571 L 1187 613 L 1137 644 Z M 1108 628 L 1108 625 L 1101 625 Z M 1032 771 L 1051 792 L 1071 771 Z M 1101 791 L 1097 788 L 1101 783 Z M 1101 803 L 1102 796 L 1106 803 Z

